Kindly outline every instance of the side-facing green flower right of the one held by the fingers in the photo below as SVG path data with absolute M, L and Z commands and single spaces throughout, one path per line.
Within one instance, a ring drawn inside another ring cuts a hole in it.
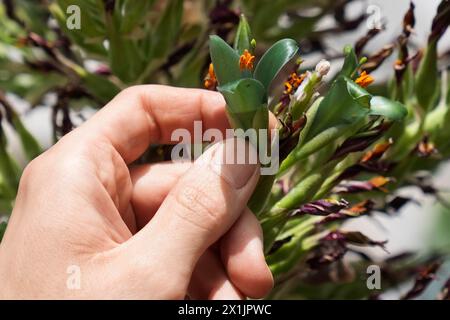
M 365 90 L 365 87 L 373 83 L 373 77 L 365 71 L 354 76 L 365 61 L 358 62 L 352 48 L 346 48 L 345 52 L 344 66 L 328 94 L 322 100 L 319 99 L 320 103 L 315 108 L 311 107 L 306 111 L 308 124 L 295 150 L 283 161 L 281 172 L 339 137 L 361 131 L 370 121 L 367 117 L 378 117 L 390 123 L 406 116 L 407 111 L 402 104 L 384 97 L 372 96 Z M 355 77 L 355 80 L 351 77 Z M 301 86 L 298 90 L 300 89 Z

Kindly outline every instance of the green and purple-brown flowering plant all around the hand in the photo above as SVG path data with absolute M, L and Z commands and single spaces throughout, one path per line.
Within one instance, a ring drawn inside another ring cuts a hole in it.
M 395 42 L 363 58 L 365 45 L 382 31 L 373 29 L 344 50 L 337 74 L 326 79 L 327 61 L 306 70 L 299 51 L 304 59 L 311 52 L 326 55 L 327 35 L 365 22 L 365 11 L 348 18 L 352 2 L 0 1 L 0 240 L 23 165 L 43 151 L 22 122 L 17 99 L 26 102 L 26 111 L 38 105 L 50 109 L 57 141 L 80 122 L 80 110 L 101 108 L 127 86 L 199 87 L 207 73 L 205 86 L 223 93 L 235 128 L 266 128 L 269 111 L 278 119 L 280 170 L 261 177 L 249 203 L 263 225 L 276 278 L 270 297 L 374 298 L 360 277 L 374 263 L 382 269 L 383 290 L 418 274 L 404 298 L 420 294 L 436 272 L 436 255 L 374 262 L 357 246 L 384 242 L 342 226 L 374 211 L 397 211 L 411 201 L 397 193 L 404 186 L 445 201 L 422 172 L 432 172 L 450 156 L 448 64 L 445 54 L 437 55 L 450 5 L 441 1 L 423 52 L 410 52 L 408 45 L 414 36 L 411 4 Z M 69 5 L 81 9 L 79 30 L 67 27 Z M 251 17 L 251 31 L 239 13 Z M 324 19 L 333 26 L 321 28 Z M 220 37 L 210 41 L 211 66 L 209 34 Z M 233 36 L 234 48 L 225 43 Z M 277 42 L 283 38 L 295 41 Z M 392 80 L 373 82 L 372 72 L 394 52 Z M 339 57 L 327 58 L 336 69 L 333 59 Z M 21 165 L 11 152 L 11 132 L 25 151 Z M 169 148 L 154 146 L 139 161 L 167 160 Z M 357 259 L 350 264 L 346 253 Z M 448 298 L 449 283 L 441 297 Z

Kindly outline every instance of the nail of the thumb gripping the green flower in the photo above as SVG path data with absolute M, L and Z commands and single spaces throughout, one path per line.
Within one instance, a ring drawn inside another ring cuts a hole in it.
M 242 139 L 228 139 L 219 144 L 214 152 L 211 168 L 240 189 L 259 168 L 256 149 Z

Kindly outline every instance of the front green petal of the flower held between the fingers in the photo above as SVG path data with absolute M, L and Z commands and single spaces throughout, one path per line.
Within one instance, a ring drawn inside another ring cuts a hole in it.
M 263 85 L 255 79 L 245 78 L 218 88 L 227 102 L 227 111 L 235 129 L 267 128 L 267 117 L 259 117 L 268 109 Z M 259 119 L 260 123 L 255 123 Z M 266 122 L 266 123 L 264 123 Z

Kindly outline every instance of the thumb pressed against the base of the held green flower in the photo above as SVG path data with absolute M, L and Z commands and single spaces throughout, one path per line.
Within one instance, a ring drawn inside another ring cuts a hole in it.
M 213 145 L 131 239 L 135 250 L 172 274 L 190 274 L 205 250 L 244 212 L 258 169 L 257 152 L 248 142 L 228 139 Z

